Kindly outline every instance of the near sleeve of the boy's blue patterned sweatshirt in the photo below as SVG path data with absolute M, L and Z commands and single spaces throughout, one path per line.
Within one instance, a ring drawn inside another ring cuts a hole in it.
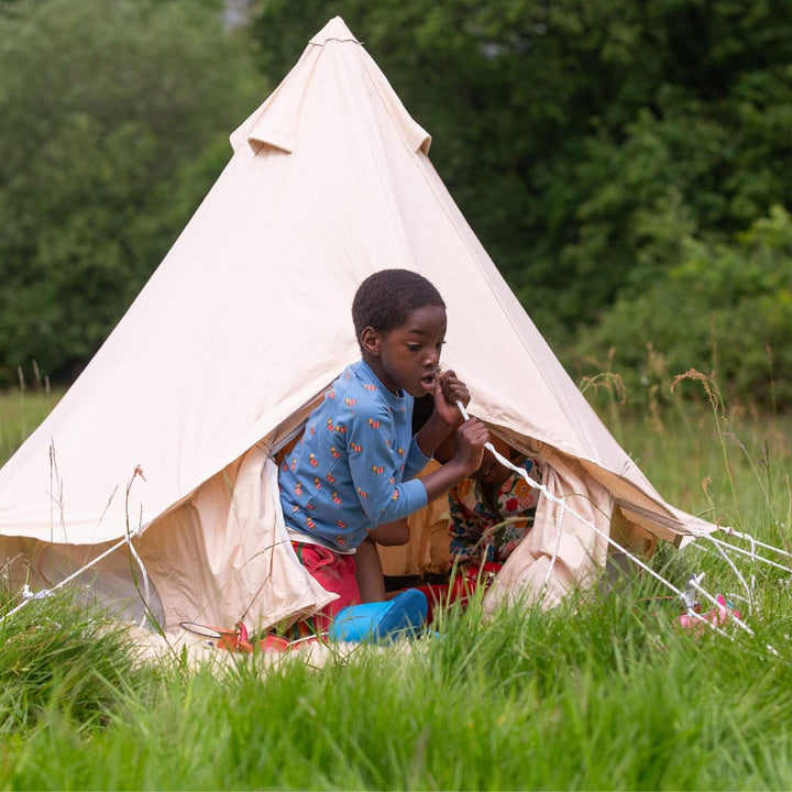
M 427 504 L 419 479 L 402 481 L 405 449 L 392 448 L 393 417 L 387 408 L 350 416 L 348 454 L 358 499 L 373 526 L 407 517 Z

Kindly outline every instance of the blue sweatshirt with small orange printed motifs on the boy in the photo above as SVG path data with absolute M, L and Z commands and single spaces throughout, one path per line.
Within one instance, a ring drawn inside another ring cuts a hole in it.
M 424 484 L 409 481 L 429 461 L 413 437 L 413 402 L 363 361 L 344 370 L 280 466 L 286 525 L 350 552 L 373 528 L 426 506 Z

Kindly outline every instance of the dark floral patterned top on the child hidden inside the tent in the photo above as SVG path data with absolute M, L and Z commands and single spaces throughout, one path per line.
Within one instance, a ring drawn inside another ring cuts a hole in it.
M 541 469 L 529 457 L 515 463 L 541 483 Z M 539 491 L 512 473 L 496 487 L 493 504 L 482 482 L 465 479 L 449 491 L 451 561 L 504 562 L 534 527 Z

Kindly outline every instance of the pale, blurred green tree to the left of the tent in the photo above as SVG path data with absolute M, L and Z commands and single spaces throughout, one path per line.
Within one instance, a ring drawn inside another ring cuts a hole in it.
M 219 2 L 0 7 L 0 381 L 68 378 L 156 267 L 266 92 Z

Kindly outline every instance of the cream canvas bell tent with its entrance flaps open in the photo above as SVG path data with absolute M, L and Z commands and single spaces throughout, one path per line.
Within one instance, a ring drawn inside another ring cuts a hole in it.
M 598 420 L 341 19 L 231 142 L 138 299 L 0 471 L 0 559 L 19 582 L 82 570 L 107 602 L 147 597 L 168 629 L 267 626 L 329 602 L 285 540 L 273 455 L 359 358 L 352 297 L 388 267 L 438 287 L 443 364 L 471 413 L 538 455 L 570 506 L 541 498 L 493 601 L 540 584 L 558 601 L 604 563 L 614 531 L 646 549 L 711 528 L 667 504 Z

